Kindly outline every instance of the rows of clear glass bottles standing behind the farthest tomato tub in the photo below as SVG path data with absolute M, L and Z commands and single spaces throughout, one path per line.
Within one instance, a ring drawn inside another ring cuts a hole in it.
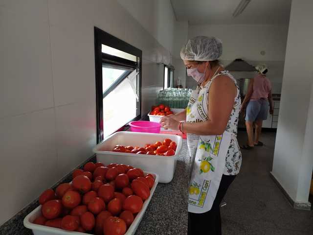
M 157 94 L 157 104 L 164 104 L 173 109 L 185 109 L 192 90 L 183 88 L 167 88 Z

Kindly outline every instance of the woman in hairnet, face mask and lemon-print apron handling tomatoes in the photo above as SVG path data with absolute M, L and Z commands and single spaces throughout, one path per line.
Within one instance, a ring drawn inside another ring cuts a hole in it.
M 192 158 L 188 197 L 188 234 L 221 235 L 220 204 L 239 173 L 242 156 L 237 141 L 241 108 L 239 87 L 217 60 L 222 43 L 197 36 L 180 51 L 187 74 L 198 86 L 187 108 L 163 117 L 164 128 L 187 133 Z

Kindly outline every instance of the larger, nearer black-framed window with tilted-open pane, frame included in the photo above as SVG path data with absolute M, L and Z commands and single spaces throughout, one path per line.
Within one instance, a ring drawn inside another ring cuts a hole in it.
M 94 27 L 97 142 L 141 116 L 142 51 Z

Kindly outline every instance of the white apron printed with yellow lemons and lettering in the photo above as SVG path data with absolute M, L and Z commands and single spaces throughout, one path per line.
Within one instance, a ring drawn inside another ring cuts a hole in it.
M 212 81 L 223 73 L 224 71 L 213 76 L 204 87 L 198 87 L 192 92 L 186 108 L 187 122 L 208 120 L 209 88 Z M 187 134 L 188 149 L 193 163 L 188 190 L 189 212 L 204 213 L 212 208 L 227 165 L 226 156 L 229 155 L 231 141 L 234 138 L 234 134 L 227 129 L 223 135 Z

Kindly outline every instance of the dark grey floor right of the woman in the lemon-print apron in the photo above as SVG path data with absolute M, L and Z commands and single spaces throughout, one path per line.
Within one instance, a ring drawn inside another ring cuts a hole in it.
M 238 133 L 246 143 L 246 133 Z M 242 150 L 239 175 L 224 197 L 223 235 L 313 235 L 313 211 L 294 210 L 269 176 L 275 133 L 263 133 L 265 146 Z

